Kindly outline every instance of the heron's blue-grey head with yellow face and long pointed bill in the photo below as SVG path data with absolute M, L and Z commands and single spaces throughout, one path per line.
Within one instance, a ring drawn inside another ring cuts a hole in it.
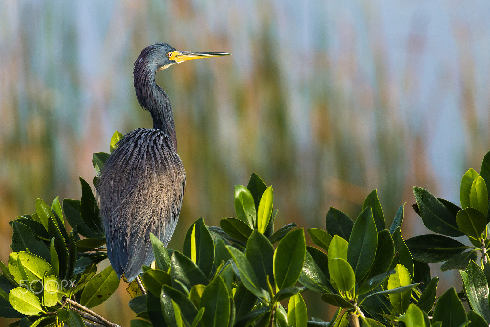
M 177 51 L 167 43 L 155 43 L 143 49 L 134 63 L 135 70 L 143 68 L 145 71 L 154 71 L 170 67 L 173 64 L 198 58 L 211 58 L 229 55 L 224 52 L 185 52 Z

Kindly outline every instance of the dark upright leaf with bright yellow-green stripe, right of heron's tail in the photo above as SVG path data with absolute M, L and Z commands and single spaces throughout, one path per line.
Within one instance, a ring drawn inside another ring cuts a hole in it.
M 196 226 L 196 228 L 194 228 Z M 194 229 L 195 238 L 192 240 L 192 232 Z M 193 252 L 193 244 L 195 244 L 195 252 Z M 192 258 L 192 253 L 196 255 L 196 265 L 206 275 L 209 276 L 213 269 L 214 263 L 214 243 L 211 234 L 204 224 L 204 219 L 197 219 L 187 230 L 184 239 L 184 255 Z

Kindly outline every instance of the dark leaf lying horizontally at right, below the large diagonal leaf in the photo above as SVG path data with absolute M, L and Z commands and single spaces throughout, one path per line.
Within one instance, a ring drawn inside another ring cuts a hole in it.
M 415 260 L 421 262 L 441 262 L 452 258 L 468 247 L 443 235 L 417 235 L 405 241 Z

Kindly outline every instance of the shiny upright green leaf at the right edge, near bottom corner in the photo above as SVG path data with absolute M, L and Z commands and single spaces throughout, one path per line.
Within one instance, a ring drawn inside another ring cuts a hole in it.
M 486 321 L 490 321 L 489 287 L 485 273 L 473 260 L 469 262 L 466 272 L 460 273 L 471 308 Z

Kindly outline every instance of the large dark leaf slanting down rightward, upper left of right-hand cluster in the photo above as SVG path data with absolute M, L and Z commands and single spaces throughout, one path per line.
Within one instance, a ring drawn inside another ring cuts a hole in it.
M 429 230 L 447 235 L 463 236 L 463 232 L 458 229 L 456 215 L 446 207 L 439 199 L 422 188 L 414 187 L 415 198 L 417 199 L 418 214 Z

